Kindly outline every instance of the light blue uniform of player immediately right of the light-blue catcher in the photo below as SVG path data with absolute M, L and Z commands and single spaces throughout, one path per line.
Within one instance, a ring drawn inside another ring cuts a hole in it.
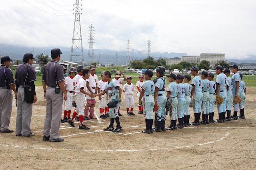
M 177 120 L 178 119 L 178 113 L 177 113 L 177 107 L 178 107 L 178 99 L 177 99 L 177 83 L 176 82 L 171 82 L 168 86 L 168 89 L 166 90 L 167 92 L 171 92 L 168 100 L 171 105 L 171 110 L 170 110 L 170 119 L 171 120 Z

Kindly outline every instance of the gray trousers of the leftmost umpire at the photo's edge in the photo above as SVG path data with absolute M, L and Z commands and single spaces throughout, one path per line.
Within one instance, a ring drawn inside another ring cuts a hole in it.
M 0 131 L 8 131 L 12 113 L 12 91 L 0 88 Z

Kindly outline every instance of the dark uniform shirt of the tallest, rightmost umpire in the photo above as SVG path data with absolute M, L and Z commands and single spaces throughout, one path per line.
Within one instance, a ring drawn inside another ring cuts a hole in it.
M 59 86 L 60 81 L 65 81 L 62 66 L 57 61 L 51 60 L 44 66 L 42 81 L 44 81 L 47 86 Z

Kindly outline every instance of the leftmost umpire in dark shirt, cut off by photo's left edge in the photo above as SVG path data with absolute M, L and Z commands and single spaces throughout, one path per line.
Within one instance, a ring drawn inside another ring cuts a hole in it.
M 12 60 L 8 56 L 1 58 L 0 66 L 0 131 L 1 133 L 11 133 L 9 124 L 12 113 L 12 90 L 14 91 L 15 98 L 17 92 L 15 89 L 15 82 L 13 79 L 12 71 L 8 68 Z

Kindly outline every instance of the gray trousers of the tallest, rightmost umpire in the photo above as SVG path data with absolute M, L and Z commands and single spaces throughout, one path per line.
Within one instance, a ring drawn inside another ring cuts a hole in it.
M 44 118 L 44 135 L 50 136 L 50 140 L 57 139 L 59 136 L 61 111 L 63 104 L 63 94 L 55 94 L 55 88 L 46 89 L 46 115 Z

